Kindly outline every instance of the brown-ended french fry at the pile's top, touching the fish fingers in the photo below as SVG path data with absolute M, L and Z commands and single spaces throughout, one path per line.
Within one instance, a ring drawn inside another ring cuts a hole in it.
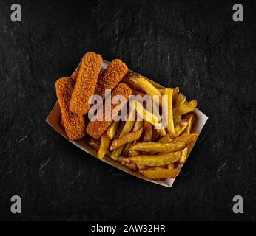
M 145 91 L 146 94 L 149 94 L 152 97 L 154 95 L 159 96 L 159 105 L 162 105 L 161 92 L 141 75 L 128 72 L 124 77 L 123 82 L 127 83 L 132 89 L 141 89 L 142 91 Z

